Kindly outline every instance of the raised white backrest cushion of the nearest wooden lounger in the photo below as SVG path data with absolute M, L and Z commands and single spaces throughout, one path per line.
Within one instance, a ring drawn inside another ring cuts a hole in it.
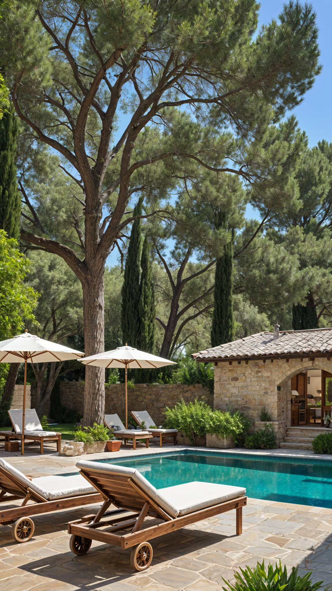
M 160 492 L 157 491 L 157 489 L 154 488 L 154 486 L 152 486 L 152 484 L 150 484 L 148 480 L 138 472 L 138 470 L 135 470 L 135 468 L 116 466 L 114 464 L 106 464 L 104 462 L 89 462 L 88 460 L 80 460 L 80 462 L 77 462 L 76 466 L 82 470 L 86 469 L 88 473 L 93 470 L 108 475 L 111 491 L 112 474 L 128 476 L 128 478 L 132 478 L 143 491 L 146 491 L 148 495 L 151 496 L 151 498 L 161 506 L 162 509 L 165 509 L 169 515 L 172 517 L 178 516 L 178 509 L 172 503 L 168 502 L 167 499 L 165 499 L 164 496 L 162 496 Z M 133 491 L 133 494 L 134 493 L 135 491 Z

